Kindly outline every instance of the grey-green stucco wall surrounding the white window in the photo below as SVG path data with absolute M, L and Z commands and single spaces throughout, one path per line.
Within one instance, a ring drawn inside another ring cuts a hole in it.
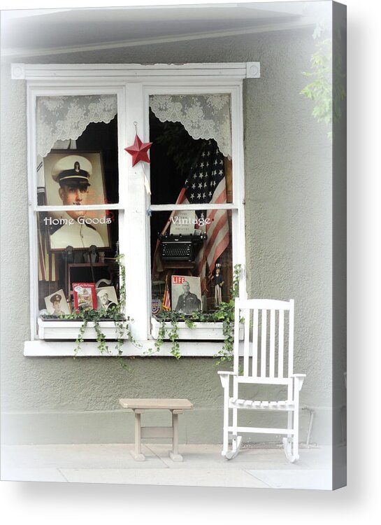
M 311 440 L 329 442 L 331 405 L 331 145 L 299 94 L 312 29 L 68 55 L 17 62 L 260 61 L 244 81 L 247 282 L 250 295 L 296 301 L 296 365 L 306 372 L 301 402 L 314 407 Z M 212 358 L 136 358 L 134 372 L 112 358 L 26 358 L 29 338 L 26 95 L 1 74 L 1 287 L 3 440 L 132 442 L 120 397 L 186 397 L 180 440 L 222 440 L 222 388 Z M 16 211 L 17 210 L 17 211 Z M 152 416 L 152 423 L 154 419 Z M 301 415 L 301 440 L 308 413 Z M 261 440 L 261 437 L 258 437 Z

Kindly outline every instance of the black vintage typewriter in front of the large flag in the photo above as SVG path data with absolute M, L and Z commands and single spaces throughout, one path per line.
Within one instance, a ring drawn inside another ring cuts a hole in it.
M 206 238 L 205 233 L 199 235 L 159 235 L 161 259 L 164 261 L 192 262 Z

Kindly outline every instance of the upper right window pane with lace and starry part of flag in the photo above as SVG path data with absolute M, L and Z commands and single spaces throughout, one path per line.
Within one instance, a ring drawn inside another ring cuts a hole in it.
M 224 134 L 210 97 L 224 97 Z M 232 202 L 229 95 L 154 95 L 150 105 L 152 204 Z

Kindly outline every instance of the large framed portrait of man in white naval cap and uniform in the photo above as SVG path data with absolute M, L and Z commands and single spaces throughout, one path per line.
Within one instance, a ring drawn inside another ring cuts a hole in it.
M 52 151 L 43 160 L 43 172 L 46 204 L 56 208 L 43 219 L 50 249 L 110 248 L 110 216 L 106 210 L 86 209 L 107 202 L 101 153 Z M 64 211 L 61 206 L 78 209 Z

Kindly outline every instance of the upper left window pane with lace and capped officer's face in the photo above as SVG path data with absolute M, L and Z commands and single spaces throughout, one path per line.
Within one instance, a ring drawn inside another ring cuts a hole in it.
M 38 204 L 119 201 L 116 101 L 115 95 L 38 97 Z M 71 200 L 65 186 L 88 191 Z

